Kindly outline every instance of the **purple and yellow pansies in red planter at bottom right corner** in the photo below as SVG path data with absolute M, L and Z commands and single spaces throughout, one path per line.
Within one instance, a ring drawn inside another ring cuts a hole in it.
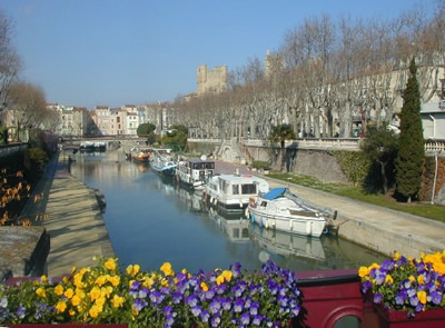
M 362 291 L 376 305 L 380 326 L 409 327 L 422 320 L 445 325 L 445 250 L 421 259 L 395 252 L 380 265 L 360 267 L 358 275 Z

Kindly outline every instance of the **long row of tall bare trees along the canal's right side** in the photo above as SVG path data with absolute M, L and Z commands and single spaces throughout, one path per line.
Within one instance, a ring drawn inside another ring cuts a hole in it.
M 386 21 L 306 19 L 264 66 L 254 58 L 231 71 L 227 92 L 178 97 L 172 107 L 201 137 L 268 138 L 283 123 L 307 136 L 350 137 L 355 116 L 379 125 L 399 110 L 413 57 L 423 101 L 441 97 L 444 27 L 444 1 Z

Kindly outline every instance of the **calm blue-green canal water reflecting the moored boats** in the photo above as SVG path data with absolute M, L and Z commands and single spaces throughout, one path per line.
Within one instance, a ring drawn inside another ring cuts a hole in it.
M 126 160 L 122 150 L 78 152 L 73 158 L 71 173 L 105 195 L 103 219 L 121 268 L 139 264 L 154 270 L 169 261 L 175 270 L 196 272 L 238 261 L 257 270 L 271 259 L 298 271 L 358 268 L 385 259 L 333 236 L 315 239 L 266 230 L 243 213 L 208 208 L 200 195 L 162 179 L 148 165 Z

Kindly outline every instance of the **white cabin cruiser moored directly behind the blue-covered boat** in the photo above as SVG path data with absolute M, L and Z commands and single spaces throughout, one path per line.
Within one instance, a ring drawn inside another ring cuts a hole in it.
M 209 179 L 205 198 L 227 211 L 243 211 L 249 199 L 269 190 L 269 183 L 253 175 L 220 175 Z

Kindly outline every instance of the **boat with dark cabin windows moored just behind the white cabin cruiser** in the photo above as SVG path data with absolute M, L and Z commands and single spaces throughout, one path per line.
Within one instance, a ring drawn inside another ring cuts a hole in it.
M 178 182 L 194 190 L 202 190 L 206 182 L 214 176 L 215 161 L 201 159 L 188 159 L 179 161 L 176 168 Z

